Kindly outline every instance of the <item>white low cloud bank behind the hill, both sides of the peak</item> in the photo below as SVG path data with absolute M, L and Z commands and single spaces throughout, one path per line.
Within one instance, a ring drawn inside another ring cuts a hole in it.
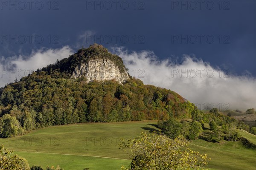
M 235 76 L 228 70 L 213 68 L 209 62 L 195 56 L 184 55 L 182 62 L 177 63 L 173 59 L 160 60 L 152 51 L 128 52 L 120 47 L 114 47 L 112 51 L 123 59 L 131 76 L 145 84 L 176 91 L 198 108 L 207 106 L 207 109 L 215 107 L 222 111 L 256 108 L 256 79 L 250 74 Z M 29 56 L 1 57 L 0 87 L 73 53 L 70 46 L 64 46 L 41 48 Z

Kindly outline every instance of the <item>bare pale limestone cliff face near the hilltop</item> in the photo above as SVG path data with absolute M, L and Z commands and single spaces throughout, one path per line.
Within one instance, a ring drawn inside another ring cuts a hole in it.
M 107 58 L 89 59 L 86 63 L 77 65 L 71 78 L 79 78 L 84 76 L 88 82 L 93 80 L 111 80 L 115 79 L 122 83 L 129 79 L 128 71 L 121 73 L 118 66 Z

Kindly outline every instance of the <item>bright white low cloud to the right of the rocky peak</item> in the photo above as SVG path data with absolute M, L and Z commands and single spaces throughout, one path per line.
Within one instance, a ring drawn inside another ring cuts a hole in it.
M 256 108 L 256 79 L 234 76 L 228 70 L 213 68 L 209 62 L 183 55 L 180 64 L 172 59 L 159 60 L 152 51 L 128 52 L 112 48 L 129 69 L 131 76 L 145 84 L 177 92 L 198 108 L 218 108 L 222 111 Z

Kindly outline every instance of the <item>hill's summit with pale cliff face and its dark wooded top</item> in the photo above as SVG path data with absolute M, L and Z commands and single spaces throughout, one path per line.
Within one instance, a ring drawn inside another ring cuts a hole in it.
M 48 65 L 42 70 L 55 69 L 69 74 L 72 79 L 85 77 L 87 82 L 114 79 L 123 83 L 130 79 L 128 69 L 122 59 L 98 44 L 90 45 L 89 48 L 81 48 L 76 54 L 57 61 L 54 65 Z

